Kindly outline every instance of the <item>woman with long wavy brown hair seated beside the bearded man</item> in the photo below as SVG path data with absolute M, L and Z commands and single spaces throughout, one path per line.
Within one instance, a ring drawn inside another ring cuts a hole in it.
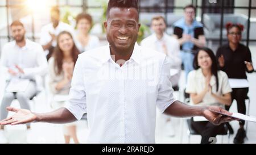
M 57 46 L 53 52 L 53 57 L 49 59 L 49 88 L 53 95 L 68 95 L 71 88 L 73 69 L 76 64 L 79 50 L 73 42 L 71 33 L 60 32 L 57 36 Z M 54 101 L 53 108 L 63 107 L 65 101 Z M 76 136 L 76 124 L 64 125 L 65 143 L 69 143 L 72 138 L 74 143 L 79 143 Z

